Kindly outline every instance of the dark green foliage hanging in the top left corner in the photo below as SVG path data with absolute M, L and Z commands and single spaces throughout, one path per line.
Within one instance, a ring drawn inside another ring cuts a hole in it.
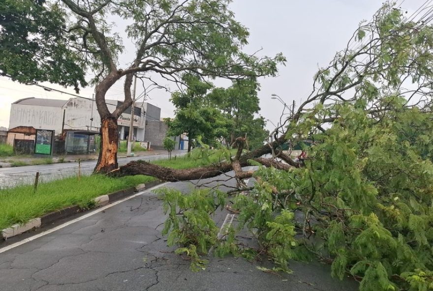
M 65 15 L 45 0 L 0 2 L 0 75 L 21 83 L 87 85 L 85 63 L 69 45 Z

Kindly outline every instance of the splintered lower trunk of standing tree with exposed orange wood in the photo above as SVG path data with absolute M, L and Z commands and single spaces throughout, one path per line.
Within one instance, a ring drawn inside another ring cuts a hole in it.
M 119 135 L 117 119 L 114 116 L 101 118 L 100 134 L 99 158 L 94 172 L 109 173 L 119 169 L 119 164 L 117 163 Z

